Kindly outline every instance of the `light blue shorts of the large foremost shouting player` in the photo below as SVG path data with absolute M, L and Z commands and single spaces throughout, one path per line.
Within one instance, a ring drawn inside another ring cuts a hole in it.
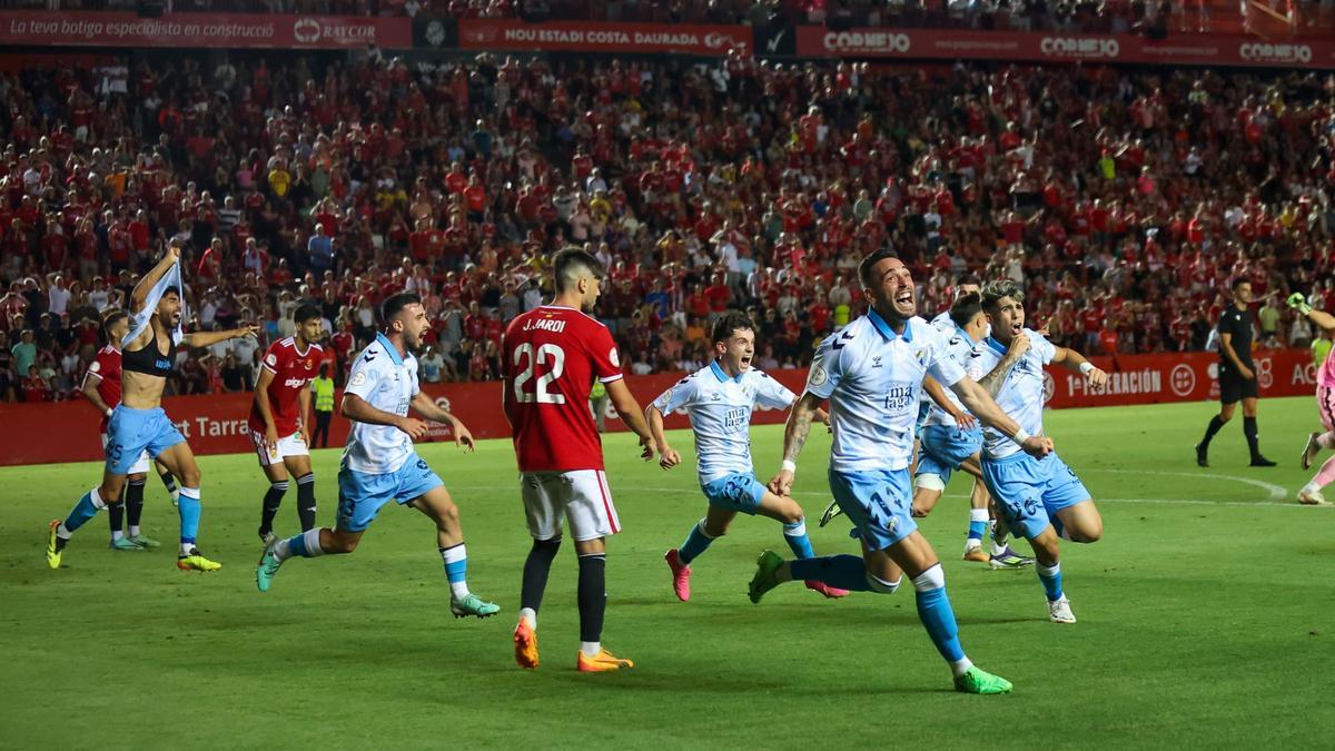
M 913 488 L 908 469 L 829 470 L 834 502 L 873 551 L 884 551 L 917 529 L 909 513 Z

